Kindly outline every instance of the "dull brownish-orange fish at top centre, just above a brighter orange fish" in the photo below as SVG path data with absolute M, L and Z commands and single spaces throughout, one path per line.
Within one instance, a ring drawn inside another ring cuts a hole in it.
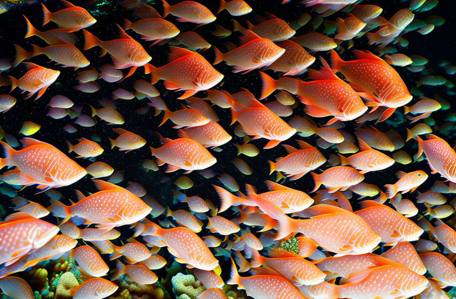
M 246 20 L 248 29 L 260 37 L 267 38 L 275 42 L 287 40 L 296 33 L 296 31 L 292 30 L 288 23 L 284 20 L 279 19 L 270 13 L 267 13 L 267 17 L 268 20 L 255 26 Z M 234 31 L 246 30 L 235 20 L 233 20 L 233 25 Z

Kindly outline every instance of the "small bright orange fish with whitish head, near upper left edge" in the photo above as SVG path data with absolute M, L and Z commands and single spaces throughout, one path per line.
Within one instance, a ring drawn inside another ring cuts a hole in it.
M 28 69 L 28 72 L 24 76 L 20 79 L 8 76 L 11 79 L 11 91 L 16 87 L 19 87 L 23 92 L 28 91 L 27 99 L 38 92 L 36 96 L 36 99 L 38 99 L 57 80 L 60 71 L 42 67 L 31 62 L 24 62 L 24 64 Z

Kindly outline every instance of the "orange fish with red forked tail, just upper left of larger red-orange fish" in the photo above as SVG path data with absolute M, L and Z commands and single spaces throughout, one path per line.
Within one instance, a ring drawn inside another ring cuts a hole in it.
M 103 49 L 102 55 L 106 53 L 111 54 L 115 68 L 124 69 L 132 66 L 124 79 L 132 75 L 138 66 L 144 66 L 145 73 L 150 73 L 147 62 L 152 58 L 139 42 L 125 33 L 120 26 L 117 25 L 117 27 L 120 31 L 120 38 L 109 41 L 101 41 L 92 33 L 83 30 L 85 38 L 84 50 L 98 46 Z

